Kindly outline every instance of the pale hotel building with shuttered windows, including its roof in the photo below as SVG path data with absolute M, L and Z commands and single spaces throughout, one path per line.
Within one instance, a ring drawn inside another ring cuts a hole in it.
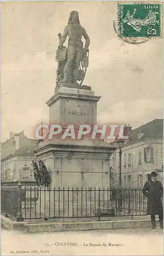
M 110 157 L 111 186 L 119 186 L 119 148 Z M 122 187 L 143 187 L 156 171 L 163 182 L 163 119 L 155 119 L 129 133 L 129 140 L 122 148 Z

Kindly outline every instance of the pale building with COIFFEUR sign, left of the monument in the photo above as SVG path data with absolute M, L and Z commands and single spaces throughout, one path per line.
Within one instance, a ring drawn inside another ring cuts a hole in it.
M 35 183 L 32 160 L 37 160 L 33 151 L 37 140 L 20 133 L 10 132 L 10 138 L 1 143 L 1 181 L 4 184 Z

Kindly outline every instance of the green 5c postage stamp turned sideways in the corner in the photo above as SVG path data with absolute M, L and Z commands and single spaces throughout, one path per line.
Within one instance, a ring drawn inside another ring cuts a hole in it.
M 161 36 L 161 3 L 118 3 L 121 37 Z

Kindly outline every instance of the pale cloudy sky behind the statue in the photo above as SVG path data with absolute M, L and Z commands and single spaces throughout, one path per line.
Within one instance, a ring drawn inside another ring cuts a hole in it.
M 5 2 L 1 17 L 2 141 L 9 133 L 34 138 L 38 123 L 49 123 L 45 104 L 53 94 L 59 32 L 69 13 L 79 12 L 90 37 L 83 84 L 98 102 L 98 123 L 130 123 L 132 129 L 162 118 L 162 39 L 131 45 L 118 38 L 116 2 Z M 64 44 L 66 46 L 66 44 Z

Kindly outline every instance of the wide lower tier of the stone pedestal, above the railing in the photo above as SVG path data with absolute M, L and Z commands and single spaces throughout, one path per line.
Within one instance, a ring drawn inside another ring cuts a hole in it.
M 52 187 L 109 187 L 109 158 L 115 147 L 102 141 L 63 141 L 43 144 L 35 154 L 45 161 Z

